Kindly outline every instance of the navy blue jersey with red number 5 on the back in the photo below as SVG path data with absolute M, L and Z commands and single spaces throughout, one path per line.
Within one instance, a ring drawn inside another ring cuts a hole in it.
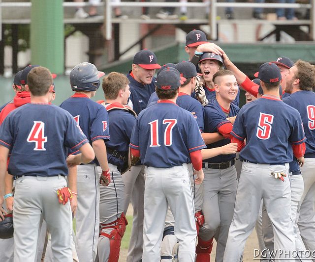
M 261 164 L 291 162 L 291 144 L 305 141 L 299 112 L 269 96 L 244 105 L 231 134 L 240 140 L 246 138 L 240 159 Z

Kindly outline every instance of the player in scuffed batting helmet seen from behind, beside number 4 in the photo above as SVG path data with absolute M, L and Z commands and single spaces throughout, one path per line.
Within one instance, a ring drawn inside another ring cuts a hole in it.
M 75 93 L 60 105 L 70 112 L 95 151 L 94 161 L 77 167 L 76 249 L 79 261 L 87 262 L 93 262 L 97 254 L 99 183 L 110 183 L 105 146 L 109 140 L 108 114 L 104 106 L 91 100 L 103 75 L 91 63 L 76 65 L 70 72 L 71 89 Z

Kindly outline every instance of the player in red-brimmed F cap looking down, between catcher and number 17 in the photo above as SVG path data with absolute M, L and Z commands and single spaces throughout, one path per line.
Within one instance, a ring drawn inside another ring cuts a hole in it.
M 127 74 L 130 87 L 128 105 L 139 114 L 147 107 L 151 94 L 155 91 L 155 70 L 159 69 L 157 57 L 154 52 L 144 49 L 133 57 L 132 70 Z M 132 230 L 129 242 L 127 262 L 138 262 L 142 257 L 143 245 L 143 197 L 144 197 L 144 166 L 132 166 L 123 175 L 125 183 L 125 208 L 126 214 L 130 199 L 133 207 Z

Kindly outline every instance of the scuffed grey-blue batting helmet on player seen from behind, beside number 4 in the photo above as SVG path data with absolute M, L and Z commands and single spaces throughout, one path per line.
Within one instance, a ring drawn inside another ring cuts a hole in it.
M 76 65 L 70 72 L 70 84 L 73 91 L 96 91 L 104 72 L 97 71 L 94 64 L 84 62 Z

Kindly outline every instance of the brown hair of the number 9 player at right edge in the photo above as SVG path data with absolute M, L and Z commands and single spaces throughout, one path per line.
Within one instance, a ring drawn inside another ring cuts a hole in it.
M 315 66 L 302 60 L 294 65 L 297 67 L 295 78 L 300 79 L 299 88 L 311 91 L 315 87 Z

